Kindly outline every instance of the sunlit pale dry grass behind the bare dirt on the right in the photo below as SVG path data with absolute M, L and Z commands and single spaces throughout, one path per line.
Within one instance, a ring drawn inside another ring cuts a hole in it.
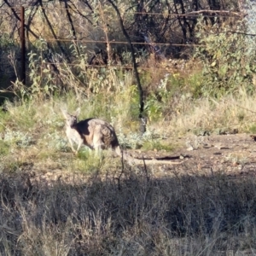
M 176 113 L 171 118 L 164 117 L 160 127 L 176 135 L 185 135 L 188 131 L 198 134 L 199 131 L 221 129 L 255 132 L 255 100 L 255 95 L 247 96 L 243 90 L 238 96 L 224 96 L 219 101 L 212 98 L 193 100 L 190 96 L 184 96 L 177 102 Z

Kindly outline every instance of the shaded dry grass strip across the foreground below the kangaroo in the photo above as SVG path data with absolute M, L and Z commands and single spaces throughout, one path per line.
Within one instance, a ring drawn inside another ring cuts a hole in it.
M 1 177 L 3 255 L 224 255 L 255 247 L 252 179 Z M 242 253 L 239 255 L 243 255 Z

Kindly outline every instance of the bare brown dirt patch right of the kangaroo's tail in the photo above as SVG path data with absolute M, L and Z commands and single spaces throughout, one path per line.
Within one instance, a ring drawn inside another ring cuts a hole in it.
M 249 134 L 212 135 L 206 137 L 173 138 L 177 148 L 172 153 L 143 152 L 144 158 L 170 160 L 178 165 L 156 165 L 154 175 L 193 174 L 211 175 L 213 172 L 228 176 L 256 174 L 256 142 Z M 142 152 L 134 152 L 142 158 Z

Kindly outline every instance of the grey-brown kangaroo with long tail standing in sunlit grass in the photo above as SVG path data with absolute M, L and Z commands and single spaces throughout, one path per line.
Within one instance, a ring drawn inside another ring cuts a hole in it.
M 79 149 L 84 144 L 90 149 L 95 149 L 97 152 L 101 149 L 111 148 L 113 152 L 119 157 L 126 160 L 129 164 L 146 164 L 160 163 L 160 164 L 180 164 L 180 162 L 172 162 L 170 160 L 137 160 L 131 155 L 123 152 L 119 146 L 118 137 L 113 129 L 113 126 L 102 119 L 90 118 L 78 122 L 80 108 L 75 113 L 70 114 L 67 111 L 61 112 L 66 119 L 66 135 L 75 154 L 78 154 Z M 78 146 L 75 149 L 73 143 Z

